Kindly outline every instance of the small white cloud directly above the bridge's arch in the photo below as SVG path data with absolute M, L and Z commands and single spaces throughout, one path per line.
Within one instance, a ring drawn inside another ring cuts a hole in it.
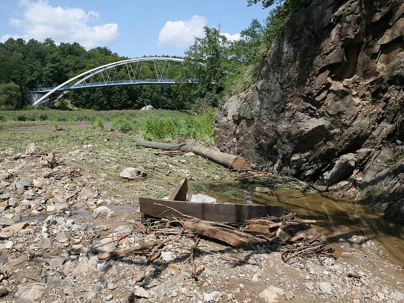
M 159 34 L 159 45 L 176 47 L 189 46 L 194 37 L 204 35 L 204 26 L 208 20 L 202 16 L 192 16 L 185 21 L 167 21 Z

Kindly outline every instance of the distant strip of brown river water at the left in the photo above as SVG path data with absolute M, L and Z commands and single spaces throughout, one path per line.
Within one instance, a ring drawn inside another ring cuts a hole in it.
M 78 129 L 87 128 L 90 125 L 88 121 L 69 121 L 69 122 L 56 122 L 59 127 L 66 128 L 68 125 L 71 125 Z M 105 121 L 103 122 L 104 127 L 111 127 L 111 122 Z M 55 122 L 45 121 L 45 122 L 36 122 L 36 121 L 24 121 L 24 122 L 8 122 L 8 123 L 0 123 L 3 130 L 52 130 L 55 129 Z

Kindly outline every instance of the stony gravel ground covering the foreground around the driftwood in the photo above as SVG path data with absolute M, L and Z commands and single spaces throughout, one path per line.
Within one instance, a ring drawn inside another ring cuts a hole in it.
M 92 153 L 91 144 L 66 147 L 60 157 L 35 144 L 23 154 L 2 151 L 0 302 L 404 301 L 403 268 L 388 261 L 380 245 L 355 235 L 340 240 L 337 259 L 289 264 L 265 247 L 245 251 L 201 239 L 200 272 L 188 278 L 193 240 L 133 231 L 140 220 L 137 198 L 125 196 L 128 184 L 121 191 L 104 186 L 107 175 L 86 166 Z M 170 165 L 174 173 L 192 174 Z M 104 167 L 117 176 L 123 169 L 112 160 Z M 153 182 L 148 188 L 131 182 L 132 192 L 156 190 Z M 159 191 L 161 183 L 156 186 Z M 97 259 L 100 252 L 168 237 L 176 239 L 151 263 L 145 256 Z

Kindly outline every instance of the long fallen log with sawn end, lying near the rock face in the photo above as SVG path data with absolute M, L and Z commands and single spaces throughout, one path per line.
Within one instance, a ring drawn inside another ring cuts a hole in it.
M 226 153 L 222 153 L 219 150 L 188 144 L 176 144 L 176 143 L 164 143 L 153 141 L 137 141 L 136 146 L 144 146 L 150 148 L 160 148 L 163 150 L 181 150 L 185 153 L 192 151 L 192 153 L 209 159 L 217 164 L 220 164 L 228 169 L 242 169 L 246 166 L 246 162 L 241 156 L 234 156 Z

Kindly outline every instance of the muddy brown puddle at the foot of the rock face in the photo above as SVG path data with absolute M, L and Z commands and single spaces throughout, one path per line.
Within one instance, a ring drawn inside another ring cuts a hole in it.
M 336 254 L 340 252 L 339 239 L 349 238 L 352 234 L 364 235 L 380 243 L 394 263 L 404 266 L 404 225 L 375 214 L 365 205 L 322 194 L 286 190 L 273 190 L 265 194 L 256 192 L 255 186 L 241 184 L 241 187 L 240 184 L 219 184 L 206 188 L 202 193 L 217 198 L 219 203 L 242 203 L 243 189 L 246 189 L 251 193 L 254 203 L 281 205 L 284 213 L 293 212 L 301 219 L 316 220 L 316 224 L 312 225 L 327 236 L 336 248 Z

